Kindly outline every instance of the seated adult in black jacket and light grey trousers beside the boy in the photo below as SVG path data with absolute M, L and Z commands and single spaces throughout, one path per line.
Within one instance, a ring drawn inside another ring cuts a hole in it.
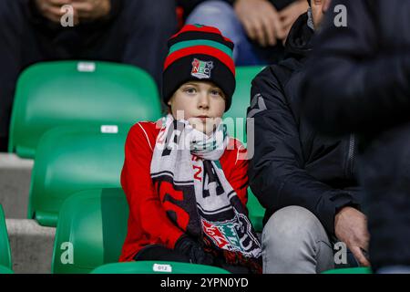
M 319 273 L 333 268 L 333 243 L 343 241 L 367 265 L 360 244 L 368 240 L 355 178 L 354 135 L 329 138 L 302 115 L 299 83 L 311 52 L 313 27 L 326 6 L 292 26 L 288 57 L 252 81 L 248 118 L 254 119 L 251 190 L 267 209 L 262 233 L 265 273 Z

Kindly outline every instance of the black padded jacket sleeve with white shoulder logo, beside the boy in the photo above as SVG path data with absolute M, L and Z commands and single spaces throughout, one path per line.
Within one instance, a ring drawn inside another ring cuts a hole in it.
M 271 70 L 265 69 L 252 81 L 251 96 L 259 100 L 251 102 L 258 108 L 248 111 L 248 119 L 254 119 L 255 137 L 249 166 L 251 190 L 268 211 L 290 205 L 310 210 L 334 235 L 334 215 L 343 206 L 356 206 L 354 196 L 319 182 L 304 170 L 298 127 Z

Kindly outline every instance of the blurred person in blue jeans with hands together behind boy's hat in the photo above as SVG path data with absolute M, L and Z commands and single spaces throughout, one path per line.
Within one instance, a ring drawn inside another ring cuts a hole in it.
M 216 26 L 235 44 L 237 66 L 266 65 L 282 59 L 282 43 L 305 0 L 179 0 L 190 12 L 187 24 Z

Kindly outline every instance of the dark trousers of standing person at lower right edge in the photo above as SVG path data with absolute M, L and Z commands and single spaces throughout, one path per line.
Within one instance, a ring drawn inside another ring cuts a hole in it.
M 366 144 L 359 175 L 372 268 L 410 266 L 410 122 L 384 130 Z

